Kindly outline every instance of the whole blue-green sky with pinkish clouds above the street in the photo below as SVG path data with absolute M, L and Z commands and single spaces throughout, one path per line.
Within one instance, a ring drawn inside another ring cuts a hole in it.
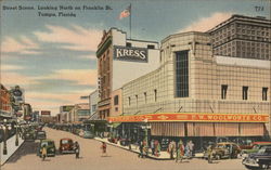
M 129 18 L 119 19 L 129 4 L 131 38 L 158 42 L 177 32 L 206 31 L 232 14 L 270 19 L 269 0 L 0 0 L 0 82 L 8 89 L 18 84 L 34 110 L 52 115 L 62 105 L 88 102 L 80 96 L 96 89 L 95 51 L 102 32 L 117 27 L 130 36 Z M 60 12 L 68 16 L 59 16 Z

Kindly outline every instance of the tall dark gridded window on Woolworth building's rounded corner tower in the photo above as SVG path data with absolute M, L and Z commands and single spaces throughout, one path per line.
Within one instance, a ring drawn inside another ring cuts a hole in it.
M 176 96 L 189 96 L 189 51 L 176 52 Z

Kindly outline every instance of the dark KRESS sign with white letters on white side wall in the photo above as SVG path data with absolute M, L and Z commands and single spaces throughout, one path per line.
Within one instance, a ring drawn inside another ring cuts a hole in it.
M 147 49 L 115 45 L 114 60 L 147 63 Z

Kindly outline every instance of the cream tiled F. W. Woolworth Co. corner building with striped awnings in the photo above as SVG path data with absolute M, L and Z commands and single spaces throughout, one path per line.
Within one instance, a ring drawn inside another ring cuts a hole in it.
M 242 19 L 235 17 L 224 25 Z M 122 122 L 122 134 L 134 138 L 144 121 L 152 138 L 268 138 L 270 56 L 215 55 L 212 43 L 209 32 L 165 38 L 159 67 L 122 87 L 122 115 L 107 120 Z M 266 43 L 270 50 L 270 37 Z

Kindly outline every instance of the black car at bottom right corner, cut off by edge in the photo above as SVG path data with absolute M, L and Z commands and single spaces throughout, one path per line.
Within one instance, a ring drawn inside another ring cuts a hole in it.
M 249 154 L 242 164 L 247 169 L 269 169 L 271 166 L 271 146 L 263 146 L 258 153 Z

